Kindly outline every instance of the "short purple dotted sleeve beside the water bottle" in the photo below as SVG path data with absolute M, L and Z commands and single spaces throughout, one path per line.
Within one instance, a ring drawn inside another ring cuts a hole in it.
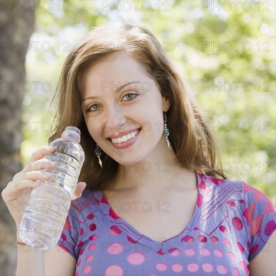
M 79 231 L 79 223 L 75 218 L 76 211 L 77 210 L 74 209 L 74 205 L 71 205 L 61 237 L 57 242 L 57 245 L 59 245 L 66 252 L 70 253 L 74 258 L 77 258 L 75 248 L 78 242 L 77 233 Z

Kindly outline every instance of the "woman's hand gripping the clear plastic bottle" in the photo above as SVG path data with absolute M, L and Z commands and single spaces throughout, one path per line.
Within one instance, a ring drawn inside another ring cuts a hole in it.
M 13 180 L 8 183 L 2 192 L 2 197 L 11 212 L 17 227 L 19 229 L 24 210 L 29 201 L 32 190 L 40 185 L 42 181 L 49 181 L 52 174 L 43 172 L 43 169 L 52 170 L 57 166 L 56 162 L 44 158 L 46 155 L 54 152 L 54 147 L 43 146 L 33 152 L 28 166 L 21 172 L 17 173 Z M 81 196 L 86 184 L 80 182 L 77 184 L 73 199 Z

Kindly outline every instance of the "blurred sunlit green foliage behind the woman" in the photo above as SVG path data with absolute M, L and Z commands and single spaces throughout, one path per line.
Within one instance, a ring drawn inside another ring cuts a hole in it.
M 124 12 L 122 7 L 120 12 L 116 7 L 111 11 L 111 3 L 103 9 L 101 1 L 64 2 L 60 8 L 66 3 L 70 4 L 67 11 L 39 8 L 36 13 L 33 40 L 50 41 L 52 47 L 48 52 L 32 49 L 28 53 L 28 81 L 48 81 L 52 87 L 26 93 L 24 121 L 41 123 L 38 131 L 32 127 L 24 132 L 23 161 L 47 144 L 48 124 L 44 131 L 41 126 L 53 119 L 48 107 L 66 50 L 103 21 L 132 23 L 134 19 L 155 34 L 187 77 L 217 137 L 219 165 L 229 170 L 228 178 L 242 179 L 275 201 L 274 2 L 264 7 L 251 1 L 250 11 L 240 4 L 237 11 L 233 6 L 221 12 L 203 9 L 206 1 L 151 1 L 150 11 L 141 1 L 136 12 Z M 219 43 L 220 48 L 215 47 Z

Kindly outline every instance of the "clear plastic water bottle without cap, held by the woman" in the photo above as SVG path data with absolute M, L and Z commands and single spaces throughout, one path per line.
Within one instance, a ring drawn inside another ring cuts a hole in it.
M 57 167 L 44 170 L 53 176 L 32 191 L 20 224 L 21 240 L 33 247 L 52 248 L 61 236 L 84 161 L 79 142 L 80 130 L 67 126 L 61 138 L 49 145 L 55 151 L 45 158 L 57 162 Z

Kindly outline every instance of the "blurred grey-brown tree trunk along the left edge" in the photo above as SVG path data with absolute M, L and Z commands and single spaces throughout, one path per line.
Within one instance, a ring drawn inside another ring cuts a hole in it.
M 0 25 L 0 188 L 3 191 L 21 167 L 22 133 L 20 125 L 24 91 L 20 84 L 25 81 L 26 58 L 23 43 L 29 42 L 30 36 L 34 32 L 34 1 L 2 1 Z M 1 214 L 0 274 L 14 275 L 17 258 L 16 225 L 2 198 Z

